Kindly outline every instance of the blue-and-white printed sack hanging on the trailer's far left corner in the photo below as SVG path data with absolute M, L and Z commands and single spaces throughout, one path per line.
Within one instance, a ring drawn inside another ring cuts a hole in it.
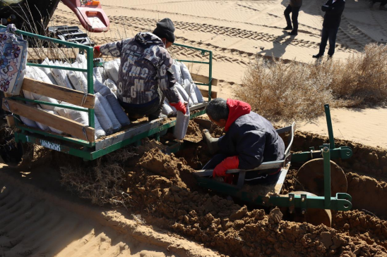
M 15 31 L 13 24 L 0 28 L 0 90 L 18 95 L 25 75 L 28 43 L 22 36 L 13 34 Z

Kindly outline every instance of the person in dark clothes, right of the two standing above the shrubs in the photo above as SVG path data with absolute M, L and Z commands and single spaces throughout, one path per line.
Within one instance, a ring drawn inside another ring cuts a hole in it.
M 329 39 L 328 58 L 335 54 L 336 35 L 340 27 L 341 15 L 345 8 L 345 0 L 328 0 L 326 4 L 321 6 L 321 10 L 325 12 L 323 21 L 323 30 L 321 32 L 320 51 L 312 56 L 313 58 L 321 58 L 324 55 L 326 43 Z

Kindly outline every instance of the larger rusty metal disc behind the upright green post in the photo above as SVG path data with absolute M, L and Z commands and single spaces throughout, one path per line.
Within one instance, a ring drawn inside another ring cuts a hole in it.
M 323 158 L 307 161 L 297 172 L 297 181 L 302 191 L 324 196 L 324 165 Z M 339 165 L 331 161 L 331 196 L 347 192 L 347 177 Z

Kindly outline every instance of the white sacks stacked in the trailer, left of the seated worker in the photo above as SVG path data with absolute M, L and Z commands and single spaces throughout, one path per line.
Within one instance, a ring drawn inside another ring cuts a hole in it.
M 116 61 L 117 63 L 117 61 Z M 83 55 L 78 55 L 76 61 L 72 64 L 62 63 L 56 61 L 55 63 L 45 59 L 42 64 L 45 65 L 58 65 L 67 66 L 73 68 L 86 68 L 86 58 Z M 116 67 L 114 67 L 116 68 Z M 97 67 L 93 70 L 94 78 L 94 91 L 95 91 L 95 138 L 98 139 L 108 134 L 112 134 L 121 129 L 122 126 L 130 124 L 130 120 L 124 110 L 121 108 L 119 101 L 117 100 L 117 86 L 114 80 L 112 80 L 109 73 L 104 68 Z M 112 71 L 114 74 L 114 70 Z M 117 68 L 118 79 L 118 68 Z M 42 82 L 57 84 L 61 87 L 67 87 L 69 89 L 76 89 L 81 92 L 88 92 L 88 82 L 86 79 L 87 73 L 69 70 L 59 70 L 50 68 L 35 68 L 27 67 L 25 77 L 30 77 L 34 80 Z M 103 83 L 103 84 L 102 84 Z M 47 101 L 54 104 L 64 104 L 66 106 L 73 106 L 72 104 L 56 101 L 47 96 L 40 96 L 31 92 L 23 90 L 23 94 L 26 99 Z M 32 104 L 37 108 L 47 111 L 49 113 L 60 115 L 65 118 L 69 118 L 83 125 L 88 125 L 88 113 L 82 111 L 75 111 L 68 108 L 61 108 L 55 106 L 48 106 L 44 104 Z M 40 128 L 44 131 L 52 131 L 58 134 L 62 134 L 61 131 L 56 130 L 47 125 L 36 123 L 33 120 L 29 120 L 25 117 L 20 117 L 25 125 L 29 127 Z

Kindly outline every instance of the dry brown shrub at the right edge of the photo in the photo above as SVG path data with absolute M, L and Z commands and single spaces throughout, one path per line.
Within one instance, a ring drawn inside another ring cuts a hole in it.
M 386 104 L 387 45 L 367 44 L 362 54 L 326 66 L 333 75 L 333 95 L 346 106 Z

